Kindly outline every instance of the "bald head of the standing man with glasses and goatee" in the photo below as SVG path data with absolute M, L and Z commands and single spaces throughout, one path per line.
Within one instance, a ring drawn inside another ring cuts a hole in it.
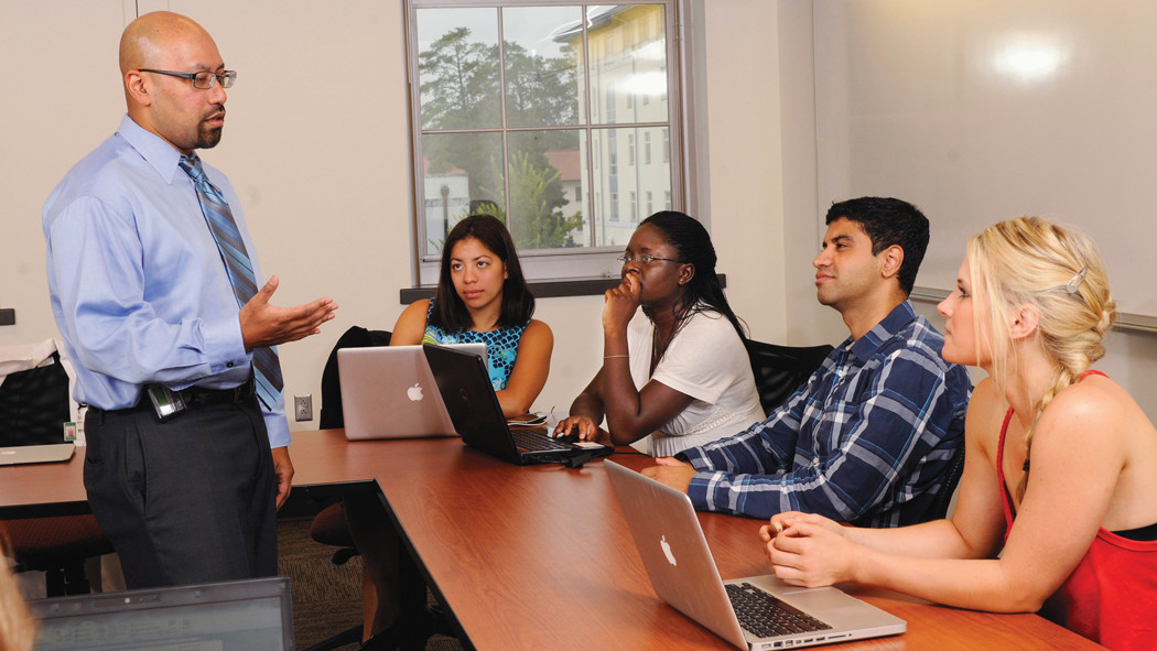
M 120 76 L 128 117 L 184 154 L 214 147 L 224 126 L 221 83 L 193 86 L 191 75 L 224 73 L 216 43 L 192 19 L 153 12 L 120 37 Z

